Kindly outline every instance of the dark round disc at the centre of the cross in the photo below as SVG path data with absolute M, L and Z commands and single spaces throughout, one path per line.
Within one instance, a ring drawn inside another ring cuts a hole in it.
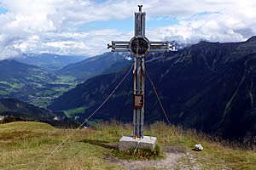
M 146 37 L 133 37 L 130 41 L 130 51 L 136 57 L 148 54 L 150 44 Z

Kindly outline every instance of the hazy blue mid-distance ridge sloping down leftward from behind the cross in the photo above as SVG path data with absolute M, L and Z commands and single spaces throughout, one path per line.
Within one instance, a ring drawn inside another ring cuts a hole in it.
M 118 71 L 125 65 L 129 65 L 132 59 L 133 57 L 127 53 L 105 53 L 84 59 L 78 63 L 69 64 L 55 73 L 87 80 L 102 73 Z

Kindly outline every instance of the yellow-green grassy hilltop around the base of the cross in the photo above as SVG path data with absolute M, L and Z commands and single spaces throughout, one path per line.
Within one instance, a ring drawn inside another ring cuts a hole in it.
M 73 131 L 39 122 L 0 125 L 0 169 L 37 169 L 45 157 Z M 142 159 L 148 159 L 147 150 L 137 151 L 136 156 L 132 150 L 126 154 L 116 150 L 122 135 L 131 133 L 131 124 L 118 122 L 102 122 L 94 128 L 79 129 L 49 157 L 42 169 L 123 169 L 107 158 L 133 160 L 144 154 Z M 195 130 L 185 131 L 163 122 L 145 126 L 144 134 L 157 137 L 159 151 L 169 146 L 182 146 L 189 159 L 201 166 L 200 169 L 256 169 L 253 147 L 250 150 L 241 148 Z M 195 144 L 202 144 L 204 150 L 192 150 Z M 164 152 L 158 155 L 156 158 L 161 159 Z M 186 159 L 178 163 L 189 164 Z

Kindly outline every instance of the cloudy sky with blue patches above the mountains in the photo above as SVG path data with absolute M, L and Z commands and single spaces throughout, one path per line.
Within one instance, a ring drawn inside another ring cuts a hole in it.
M 0 0 L 0 59 L 94 56 L 134 36 L 137 4 L 150 41 L 241 42 L 256 35 L 254 0 Z

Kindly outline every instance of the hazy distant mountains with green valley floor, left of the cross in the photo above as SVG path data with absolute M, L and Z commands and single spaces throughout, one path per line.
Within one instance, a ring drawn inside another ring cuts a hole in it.
M 128 54 L 106 53 L 83 61 L 81 59 L 84 57 L 30 54 L 24 59 L 1 60 L 0 99 L 21 99 L 45 107 L 52 99 L 86 78 L 118 71 L 131 63 Z M 76 60 L 80 62 L 74 63 Z M 61 65 L 66 67 L 56 71 Z

